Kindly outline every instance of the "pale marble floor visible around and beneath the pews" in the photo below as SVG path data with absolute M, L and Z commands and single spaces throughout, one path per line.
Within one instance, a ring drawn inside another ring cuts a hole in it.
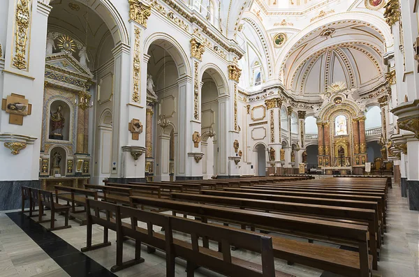
M 57 225 L 63 223 L 64 218 L 58 216 Z M 374 275 L 419 277 L 419 213 L 409 211 L 406 198 L 401 197 L 397 185 L 389 190 L 387 223 L 385 244 L 381 249 L 378 271 Z M 164 254 L 159 251 L 147 254 L 145 248 L 141 254 L 145 262 L 112 274 L 109 269 L 115 264 L 115 244 L 80 253 L 80 248 L 85 246 L 86 227 L 79 226 L 73 220 L 70 224 L 70 229 L 47 232 L 26 216 L 22 218 L 15 211 L 1 211 L 0 276 L 166 276 Z M 48 223 L 43 223 L 44 227 L 47 225 Z M 102 227 L 94 225 L 94 243 L 101 242 L 102 230 Z M 178 238 L 189 239 L 182 234 Z M 115 241 L 115 232 L 110 231 L 110 241 Z M 216 245 L 212 244 L 211 247 L 216 248 Z M 124 260 L 133 258 L 133 255 L 133 243 L 127 241 L 124 246 Z M 232 255 L 260 263 L 260 255 L 257 253 L 235 250 Z M 183 260 L 177 260 L 176 276 L 186 276 L 185 266 Z M 284 260 L 275 260 L 275 268 L 298 277 L 337 276 L 299 264 L 290 266 Z M 200 268 L 196 271 L 196 276 L 220 275 Z

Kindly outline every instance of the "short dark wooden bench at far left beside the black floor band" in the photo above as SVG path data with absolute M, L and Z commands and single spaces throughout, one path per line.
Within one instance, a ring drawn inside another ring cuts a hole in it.
M 38 206 L 39 206 L 39 212 L 38 212 L 38 223 L 45 223 L 45 222 L 50 222 L 50 228 L 48 228 L 48 231 L 55 231 L 55 230 L 61 230 L 61 229 L 66 229 L 66 228 L 70 228 L 71 225 L 68 225 L 68 213 L 70 211 L 70 207 L 68 206 L 64 206 L 58 203 L 54 202 L 54 197 L 52 195 L 52 191 L 48 191 L 48 190 L 38 190 L 36 188 L 31 188 L 31 191 L 34 191 L 34 193 L 32 193 L 33 196 L 37 195 L 37 200 L 38 200 Z M 49 220 L 43 220 L 43 211 L 44 211 L 44 206 L 50 208 L 51 210 L 51 219 Z M 60 226 L 60 227 L 55 227 L 55 213 L 57 212 L 62 212 L 64 213 L 65 216 L 65 223 L 64 226 Z

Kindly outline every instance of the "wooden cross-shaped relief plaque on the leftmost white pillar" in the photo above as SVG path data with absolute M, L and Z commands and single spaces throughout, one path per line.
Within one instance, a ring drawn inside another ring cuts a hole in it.
M 32 113 L 32 105 L 24 96 L 12 93 L 1 99 L 1 110 L 9 114 L 9 124 L 23 125 L 23 117 Z

